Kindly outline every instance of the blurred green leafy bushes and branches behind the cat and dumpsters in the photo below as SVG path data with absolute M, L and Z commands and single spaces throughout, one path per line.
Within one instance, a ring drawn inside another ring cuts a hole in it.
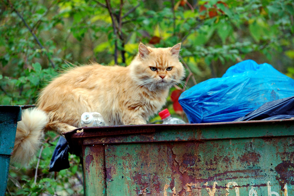
M 183 117 L 176 103 L 183 90 L 242 60 L 267 62 L 293 78 L 293 15 L 293 0 L 0 0 L 0 104 L 34 104 L 71 63 L 126 66 L 140 42 L 182 42 L 185 85 L 171 90 L 166 107 Z M 11 167 L 22 189 L 9 180 L 6 195 L 83 195 L 75 155 L 70 169 L 48 172 L 56 139 L 47 134 L 39 158 Z

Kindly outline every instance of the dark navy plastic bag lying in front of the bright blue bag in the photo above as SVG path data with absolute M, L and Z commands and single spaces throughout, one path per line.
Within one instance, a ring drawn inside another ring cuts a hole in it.
M 235 121 L 258 121 L 294 118 L 294 96 L 270 101 Z

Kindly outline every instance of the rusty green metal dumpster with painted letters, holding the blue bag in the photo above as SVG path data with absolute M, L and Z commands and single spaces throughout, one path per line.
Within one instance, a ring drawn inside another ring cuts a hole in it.
M 84 128 L 85 195 L 294 195 L 294 120 Z

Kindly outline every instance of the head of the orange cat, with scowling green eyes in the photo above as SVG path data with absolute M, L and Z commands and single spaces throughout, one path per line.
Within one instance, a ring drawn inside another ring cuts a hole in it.
M 131 62 L 131 76 L 141 86 L 154 90 L 170 88 L 181 82 L 185 70 L 179 61 L 181 43 L 169 48 L 151 48 L 140 43 Z

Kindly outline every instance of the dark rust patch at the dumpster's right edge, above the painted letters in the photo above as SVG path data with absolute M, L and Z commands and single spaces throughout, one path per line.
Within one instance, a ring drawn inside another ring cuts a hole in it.
M 294 164 L 290 161 L 283 161 L 275 167 L 278 175 L 276 179 L 280 183 L 281 190 L 284 191 L 286 183 L 294 185 Z

